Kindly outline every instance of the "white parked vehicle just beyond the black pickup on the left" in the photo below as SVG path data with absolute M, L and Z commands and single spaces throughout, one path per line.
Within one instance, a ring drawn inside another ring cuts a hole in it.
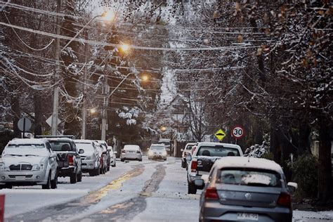
M 99 144 L 90 140 L 74 140 L 77 148 L 84 150 L 80 153 L 82 160 L 82 171 L 89 173 L 90 176 L 98 176 L 100 174 L 100 148 Z

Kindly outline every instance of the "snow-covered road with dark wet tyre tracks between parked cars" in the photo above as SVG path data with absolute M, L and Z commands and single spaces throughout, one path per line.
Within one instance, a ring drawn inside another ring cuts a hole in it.
M 6 221 L 198 221 L 199 191 L 187 194 L 180 159 L 117 162 L 105 175 L 84 176 L 58 189 L 41 186 L 0 190 Z M 333 212 L 294 211 L 294 221 L 333 221 Z

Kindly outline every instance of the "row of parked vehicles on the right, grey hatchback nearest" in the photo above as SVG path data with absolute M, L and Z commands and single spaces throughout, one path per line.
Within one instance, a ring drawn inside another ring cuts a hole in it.
M 279 164 L 242 157 L 240 146 L 228 143 L 196 143 L 185 150 L 188 193 L 202 189 L 200 221 L 292 221 L 297 184 L 287 183 Z

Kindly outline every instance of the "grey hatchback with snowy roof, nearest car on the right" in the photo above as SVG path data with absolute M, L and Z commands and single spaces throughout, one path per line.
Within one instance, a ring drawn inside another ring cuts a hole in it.
M 296 183 L 286 182 L 279 164 L 254 157 L 222 157 L 210 174 L 197 178 L 204 184 L 200 221 L 292 221 L 290 193 Z

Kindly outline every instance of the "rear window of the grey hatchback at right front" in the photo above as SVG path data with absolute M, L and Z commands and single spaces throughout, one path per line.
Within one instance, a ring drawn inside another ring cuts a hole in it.
M 218 183 L 281 187 L 280 174 L 262 169 L 222 169 L 218 173 Z

